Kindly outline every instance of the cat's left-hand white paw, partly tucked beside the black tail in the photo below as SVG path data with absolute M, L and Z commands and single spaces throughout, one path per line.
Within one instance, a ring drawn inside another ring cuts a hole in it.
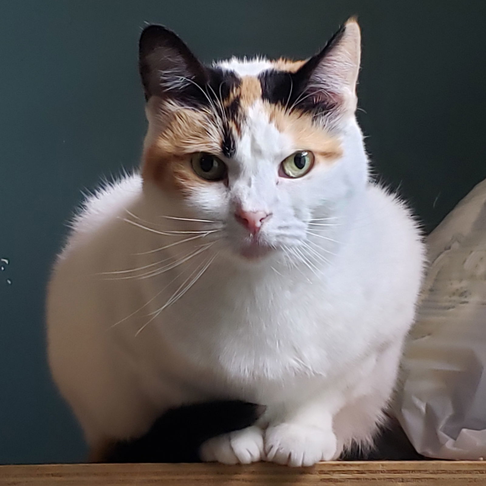
M 250 464 L 263 457 L 263 431 L 260 427 L 218 435 L 207 440 L 199 451 L 204 462 L 223 464 Z

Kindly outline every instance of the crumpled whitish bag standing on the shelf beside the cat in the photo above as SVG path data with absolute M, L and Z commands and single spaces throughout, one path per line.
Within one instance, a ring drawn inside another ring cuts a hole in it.
M 486 459 L 486 180 L 427 244 L 395 411 L 421 454 Z

